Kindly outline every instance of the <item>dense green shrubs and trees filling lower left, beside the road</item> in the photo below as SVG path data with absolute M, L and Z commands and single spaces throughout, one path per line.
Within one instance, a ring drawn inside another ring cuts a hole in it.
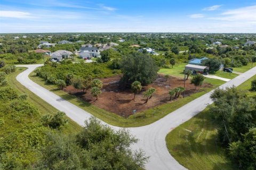
M 143 151 L 131 151 L 130 146 L 138 140 L 129 132 L 114 131 L 95 118 L 86 121 L 84 128 L 67 130 L 65 113 L 42 114 L 37 105 L 30 104 L 27 94 L 19 94 L 22 88 L 12 88 L 17 81 L 9 85 L 15 78 L 12 74 L 15 72 L 0 72 L 1 169 L 144 167 L 148 158 Z

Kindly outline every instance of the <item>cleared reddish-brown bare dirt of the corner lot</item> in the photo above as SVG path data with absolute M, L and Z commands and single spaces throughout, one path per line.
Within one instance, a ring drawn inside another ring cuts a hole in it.
M 133 110 L 137 112 L 144 111 L 148 108 L 152 108 L 161 104 L 170 103 L 169 90 L 175 87 L 183 87 L 183 79 L 177 77 L 170 77 L 169 80 L 162 75 L 158 75 L 156 81 L 149 86 L 143 86 L 141 92 L 136 95 L 135 101 L 133 100 L 133 93 L 130 89 L 119 88 L 118 81 L 121 78 L 120 75 L 105 79 L 100 79 L 103 82 L 102 94 L 99 95 L 99 99 L 95 101 L 95 97 L 91 95 L 91 91 L 87 90 L 84 94 L 82 90 L 77 90 L 73 86 L 68 86 L 64 90 L 71 95 L 75 95 L 82 98 L 84 101 L 105 109 L 106 111 L 116 113 L 121 116 L 128 116 L 133 113 Z M 211 87 L 211 84 L 204 83 L 202 87 Z M 156 89 L 155 94 L 148 103 L 145 103 L 146 98 L 143 97 L 143 92 L 145 92 L 150 87 Z M 186 91 L 185 96 L 189 96 L 195 92 L 195 86 L 190 84 L 190 80 L 186 81 Z M 182 95 L 181 95 L 182 96 Z

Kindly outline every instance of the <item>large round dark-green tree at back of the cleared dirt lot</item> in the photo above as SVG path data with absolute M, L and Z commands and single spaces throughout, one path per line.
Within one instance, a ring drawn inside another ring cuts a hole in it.
M 128 64 L 129 63 L 129 64 Z M 121 62 L 122 83 L 131 84 L 134 81 L 147 85 L 156 80 L 158 68 L 152 57 L 140 52 L 130 53 Z

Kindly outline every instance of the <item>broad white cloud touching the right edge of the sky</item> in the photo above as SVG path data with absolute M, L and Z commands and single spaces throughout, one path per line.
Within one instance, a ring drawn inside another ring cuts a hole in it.
M 256 5 L 228 10 L 210 19 L 222 21 L 256 22 Z

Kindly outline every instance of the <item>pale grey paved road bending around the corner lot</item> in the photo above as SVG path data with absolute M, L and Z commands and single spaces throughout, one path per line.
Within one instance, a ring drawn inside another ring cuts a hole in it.
M 41 97 L 47 103 L 60 111 L 65 112 L 67 116 L 69 116 L 79 125 L 83 125 L 84 121 L 91 116 L 90 113 L 87 113 L 83 109 L 53 94 L 53 92 L 39 86 L 37 83 L 28 78 L 28 75 L 32 71 L 34 71 L 37 67 L 42 66 L 41 64 L 19 66 L 28 67 L 28 69 L 20 73 L 17 76 L 17 80 L 30 91 L 34 92 L 34 94 Z M 220 88 L 238 86 L 244 81 L 250 79 L 254 74 L 256 74 L 256 67 L 253 67 L 251 70 L 238 75 L 238 77 L 228 81 L 225 84 L 222 84 Z M 135 137 L 139 139 L 139 142 L 136 143 L 136 145 L 133 145 L 132 149 L 138 150 L 141 148 L 146 152 L 147 156 L 150 156 L 149 162 L 146 164 L 146 169 L 186 169 L 170 155 L 166 147 L 165 137 L 172 129 L 203 111 L 208 104 L 212 104 L 210 94 L 211 92 L 191 101 L 185 106 L 180 107 L 176 111 L 150 125 L 138 128 L 127 128 L 133 135 L 135 135 Z M 103 123 L 106 124 L 105 122 Z M 116 126 L 110 126 L 116 130 L 119 129 Z

